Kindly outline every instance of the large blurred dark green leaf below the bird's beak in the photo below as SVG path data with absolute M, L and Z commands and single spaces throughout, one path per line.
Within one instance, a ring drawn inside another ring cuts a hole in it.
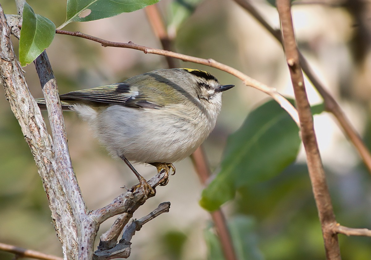
M 298 126 L 276 101 L 253 110 L 228 138 L 221 170 L 203 190 L 201 206 L 216 210 L 240 187 L 276 176 L 295 161 L 300 144 Z

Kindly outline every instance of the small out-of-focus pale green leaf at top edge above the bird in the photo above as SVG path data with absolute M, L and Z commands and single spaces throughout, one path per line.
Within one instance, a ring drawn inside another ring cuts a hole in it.
M 179 26 L 193 14 L 202 0 L 173 0 L 169 5 L 168 27 L 176 31 Z

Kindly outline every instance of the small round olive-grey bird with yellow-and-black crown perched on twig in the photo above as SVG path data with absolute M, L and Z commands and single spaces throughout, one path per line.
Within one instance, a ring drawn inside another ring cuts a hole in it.
M 160 69 L 123 82 L 60 95 L 63 110 L 76 111 L 112 156 L 128 164 L 145 194 L 153 193 L 129 161 L 166 171 L 193 153 L 213 130 L 221 109 L 220 85 L 206 71 Z M 44 99 L 36 99 L 41 108 Z M 128 161 L 129 160 L 129 161 Z

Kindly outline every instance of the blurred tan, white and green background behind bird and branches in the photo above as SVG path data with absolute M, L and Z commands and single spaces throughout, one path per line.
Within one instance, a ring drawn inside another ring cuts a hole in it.
M 35 13 L 49 18 L 57 27 L 64 22 L 66 1 L 27 2 Z M 174 37 L 175 51 L 215 59 L 277 88 L 286 96 L 293 96 L 282 47 L 234 1 L 190 1 L 194 10 L 183 22 L 174 15 L 174 2 L 161 0 L 158 6 Z M 264 0 L 252 2 L 270 24 L 279 28 L 275 7 Z M 6 14 L 16 13 L 13 0 L 3 0 L 1 6 Z M 296 1 L 292 8 L 299 49 L 369 147 L 370 8 L 370 1 L 361 0 L 323 1 L 322 4 Z M 72 23 L 64 30 L 162 48 L 144 10 Z M 17 51 L 18 40 L 13 38 L 13 43 Z M 102 47 L 92 41 L 59 34 L 47 54 L 61 94 L 167 67 L 162 56 Z M 236 85 L 224 93 L 216 129 L 204 143 L 211 169 L 217 172 L 227 136 L 236 131 L 249 111 L 266 101 L 267 96 L 223 71 L 181 61 L 179 67 L 207 70 L 222 84 Z M 34 65 L 29 64 L 24 70 L 33 96 L 42 97 Z M 307 82 L 306 87 L 311 103 L 321 103 L 311 84 Z M 0 242 L 62 256 L 35 162 L 3 88 L 0 92 Z M 47 114 L 44 115 L 47 120 Z M 131 187 L 137 180 L 122 161 L 105 153 L 85 122 L 73 112 L 64 115 L 73 167 L 88 209 L 103 207 L 125 192 L 120 187 Z M 370 173 L 331 115 L 316 115 L 315 127 L 337 221 L 344 226 L 370 229 Z M 171 202 L 169 213 L 145 224 L 135 234 L 130 259 L 223 259 L 215 246 L 210 214 L 198 204 L 203 187 L 191 160 L 184 159 L 175 167 L 177 173 L 170 176 L 169 184 L 158 187 L 156 196 L 134 214 L 139 219 L 161 202 Z M 146 179 L 156 173 L 152 166 L 138 165 L 136 169 Z M 279 176 L 240 190 L 234 201 L 223 206 L 223 211 L 231 232 L 240 235 L 243 232 L 239 247 L 249 256 L 246 259 L 325 259 L 302 151 L 296 163 Z M 99 232 L 105 232 L 113 221 L 102 224 Z M 339 242 L 343 259 L 371 259 L 370 238 L 339 235 Z M 0 259 L 12 258 L 12 254 L 0 251 Z

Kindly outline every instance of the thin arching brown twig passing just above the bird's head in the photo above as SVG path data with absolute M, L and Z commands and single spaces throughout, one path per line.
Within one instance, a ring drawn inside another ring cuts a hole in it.
M 255 79 L 250 78 L 249 76 L 242 73 L 241 71 L 236 70 L 236 69 L 234 69 L 230 66 L 227 66 L 223 63 L 217 62 L 213 59 L 201 59 L 201 58 L 197 58 L 197 57 L 193 57 L 193 56 L 189 56 L 189 55 L 185 55 L 185 54 L 175 53 L 173 51 L 155 49 L 155 48 L 146 47 L 146 46 L 143 46 L 143 45 L 138 45 L 138 44 L 132 43 L 131 41 L 129 41 L 128 43 L 118 43 L 118 42 L 114 42 L 114 41 L 107 41 L 107 40 L 99 39 L 97 37 L 93 37 L 93 36 L 90 36 L 90 35 L 87 35 L 87 34 L 80 33 L 78 31 L 73 32 L 73 31 L 56 30 L 56 33 L 67 34 L 67 35 L 71 35 L 71 36 L 76 36 L 76 37 L 81 37 L 81 38 L 85 38 L 85 39 L 88 39 L 88 40 L 96 41 L 98 43 L 101 43 L 102 46 L 104 46 L 104 47 L 110 46 L 110 47 L 120 47 L 120 48 L 129 48 L 129 49 L 141 50 L 144 53 L 152 53 L 152 54 L 158 54 L 158 55 L 162 55 L 162 56 L 173 57 L 173 58 L 180 59 L 180 60 L 183 60 L 183 61 L 190 61 L 190 62 L 193 62 L 193 63 L 203 64 L 203 65 L 206 65 L 206 66 L 214 67 L 214 68 L 219 69 L 219 70 L 226 71 L 227 73 L 232 74 L 233 76 L 242 80 L 243 83 L 246 86 L 253 87 L 255 89 L 258 89 L 258 90 L 263 91 L 264 93 L 268 94 L 270 97 L 272 97 L 274 100 L 276 100 L 277 103 L 280 104 L 280 106 L 289 113 L 289 115 L 296 122 L 296 124 L 299 125 L 298 113 L 297 113 L 295 107 L 293 107 L 292 104 L 287 99 L 285 99 L 285 97 L 283 97 L 281 94 L 279 94 L 276 91 L 276 89 L 274 89 L 272 87 L 268 87 L 267 85 L 255 80 Z

